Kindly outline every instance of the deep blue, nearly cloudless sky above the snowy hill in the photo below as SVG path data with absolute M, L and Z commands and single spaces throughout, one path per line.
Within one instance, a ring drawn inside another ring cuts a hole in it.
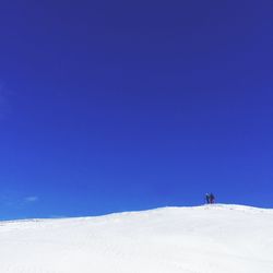
M 273 7 L 2 1 L 0 218 L 273 207 Z

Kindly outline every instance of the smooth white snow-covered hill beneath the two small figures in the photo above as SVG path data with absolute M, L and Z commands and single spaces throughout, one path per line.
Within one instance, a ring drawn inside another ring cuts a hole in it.
M 273 273 L 273 210 L 165 207 L 0 222 L 1 273 Z

